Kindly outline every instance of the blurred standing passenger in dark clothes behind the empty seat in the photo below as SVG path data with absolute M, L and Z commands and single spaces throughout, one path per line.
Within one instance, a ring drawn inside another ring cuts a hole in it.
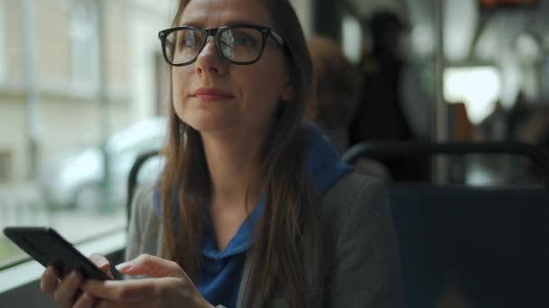
M 406 65 L 400 41 L 405 30 L 390 12 L 374 14 L 369 21 L 372 50 L 364 54 L 362 98 L 350 126 L 350 142 L 429 139 L 429 104 L 420 78 Z M 397 181 L 429 178 L 429 159 L 384 159 Z

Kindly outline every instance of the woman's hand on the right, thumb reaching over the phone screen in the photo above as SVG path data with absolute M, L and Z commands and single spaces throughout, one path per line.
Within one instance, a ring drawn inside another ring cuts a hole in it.
M 83 289 L 96 298 L 95 307 L 195 307 L 210 308 L 181 267 L 169 260 L 141 255 L 119 264 L 125 275 L 149 275 L 139 280 L 88 280 Z

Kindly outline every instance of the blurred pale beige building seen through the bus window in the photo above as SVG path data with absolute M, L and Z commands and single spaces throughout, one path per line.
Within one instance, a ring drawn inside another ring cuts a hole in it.
M 29 179 L 32 136 L 40 166 L 101 143 L 102 117 L 108 131 L 117 131 L 162 112 L 167 75 L 156 33 L 170 26 L 171 5 L 0 0 L 0 182 Z M 33 94 L 34 109 L 28 107 Z

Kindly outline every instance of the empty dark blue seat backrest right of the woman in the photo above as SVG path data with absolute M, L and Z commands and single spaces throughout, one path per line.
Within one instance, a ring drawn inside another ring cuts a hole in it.
M 394 186 L 389 197 L 408 307 L 549 307 L 546 190 Z

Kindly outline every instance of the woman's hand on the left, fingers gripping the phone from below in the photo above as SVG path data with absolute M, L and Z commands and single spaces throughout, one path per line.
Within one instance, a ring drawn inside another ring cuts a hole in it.
M 98 253 L 92 254 L 89 259 L 107 276 L 113 278 L 109 270 L 107 258 Z M 52 266 L 47 267 L 42 274 L 40 288 L 42 292 L 50 294 L 60 307 L 92 307 L 95 299 L 92 295 L 82 292 L 80 285 L 84 282 L 84 277 L 78 271 L 72 271 L 60 280 L 59 274 Z

